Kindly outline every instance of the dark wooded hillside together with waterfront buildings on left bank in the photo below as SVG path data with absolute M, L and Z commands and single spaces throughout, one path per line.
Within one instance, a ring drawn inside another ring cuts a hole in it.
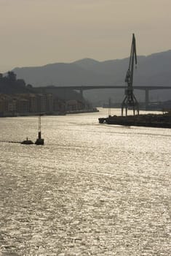
M 8 72 L 7 76 L 0 74 L 1 117 L 39 115 L 40 113 L 61 115 L 95 110 L 88 102 L 82 100 L 79 94 L 76 96 L 63 99 L 54 94 L 44 94 L 31 85 L 26 86 L 25 81 L 17 79 L 14 72 Z

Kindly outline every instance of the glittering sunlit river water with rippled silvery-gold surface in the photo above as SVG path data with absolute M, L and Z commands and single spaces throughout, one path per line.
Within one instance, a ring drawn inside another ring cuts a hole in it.
M 112 110 L 112 115 L 117 110 Z M 0 255 L 170 255 L 171 130 L 41 118 L 44 146 L 0 142 Z M 37 117 L 0 140 L 36 140 Z

